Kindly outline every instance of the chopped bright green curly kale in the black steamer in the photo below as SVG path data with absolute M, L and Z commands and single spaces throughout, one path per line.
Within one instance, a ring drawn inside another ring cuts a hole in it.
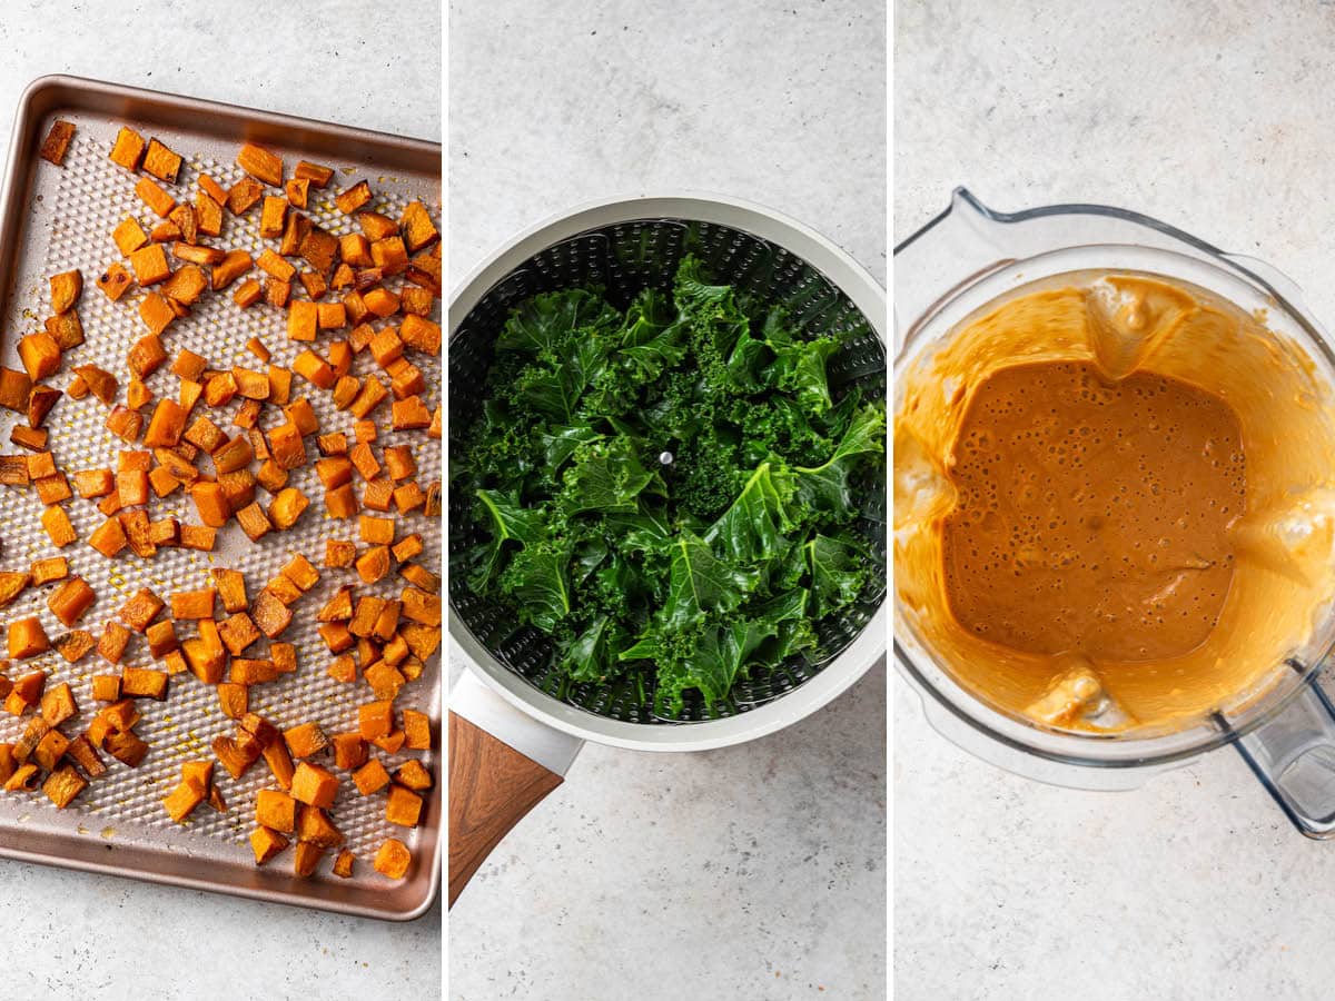
M 838 348 L 690 256 L 625 314 L 582 288 L 523 302 L 451 454 L 486 539 L 467 587 L 547 634 L 570 681 L 643 673 L 669 715 L 813 651 L 882 578 L 852 526 L 885 408 L 834 398 Z

